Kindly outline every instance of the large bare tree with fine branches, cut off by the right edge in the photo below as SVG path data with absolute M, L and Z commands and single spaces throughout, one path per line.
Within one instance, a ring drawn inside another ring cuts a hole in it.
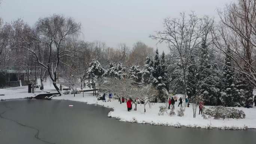
M 237 0 L 218 13 L 220 23 L 212 31 L 217 50 L 229 55 L 235 63 L 232 68 L 243 73 L 256 86 L 256 1 Z

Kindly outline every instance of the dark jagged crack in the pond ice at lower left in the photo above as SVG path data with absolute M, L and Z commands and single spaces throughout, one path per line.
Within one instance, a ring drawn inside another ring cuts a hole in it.
M 3 105 L 4 105 L 4 107 L 9 108 L 9 110 L 13 110 L 13 108 L 8 107 L 8 106 L 5 104 L 5 102 L 3 102 Z M 34 137 L 35 137 L 37 140 L 43 141 L 43 142 L 48 143 L 48 144 L 55 144 L 55 143 L 51 143 L 51 142 L 48 142 L 48 141 L 45 141 L 45 140 L 42 140 L 41 138 L 39 138 L 39 129 L 34 128 L 34 127 L 32 127 L 32 126 L 24 125 L 24 124 L 22 124 L 22 123 L 17 122 L 16 120 L 9 119 L 9 118 L 7 118 L 7 117 L 3 117 L 2 115 L 3 115 L 4 113 L 6 113 L 7 111 L 9 111 L 9 110 L 6 110 L 6 111 L 2 112 L 2 113 L 0 114 L 0 118 L 6 119 L 6 120 L 10 120 L 10 121 L 12 121 L 12 122 L 17 123 L 17 124 L 20 125 L 20 126 L 24 126 L 24 127 L 27 127 L 27 128 L 34 129 L 34 130 L 37 131 L 36 134 L 34 135 Z

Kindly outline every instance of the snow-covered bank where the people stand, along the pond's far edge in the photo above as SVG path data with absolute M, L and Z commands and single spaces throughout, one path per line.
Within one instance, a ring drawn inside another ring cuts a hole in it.
M 107 97 L 107 96 L 106 96 Z M 196 115 L 193 118 L 192 107 L 186 107 L 185 115 L 183 117 L 177 116 L 177 110 L 179 110 L 178 102 L 175 104 L 176 116 L 168 116 L 166 113 L 164 116 L 159 116 L 159 106 L 164 105 L 162 103 L 153 104 L 152 108 L 147 105 L 146 113 L 144 113 L 143 105 L 137 105 L 137 111 L 127 111 L 126 103 L 120 104 L 118 100 L 112 100 L 111 102 L 98 101 L 96 96 L 92 96 L 90 92 L 85 92 L 84 97 L 82 94 L 73 95 L 63 95 L 54 97 L 54 99 L 63 99 L 70 101 L 80 101 L 86 102 L 87 104 L 98 104 L 104 107 L 113 108 L 108 116 L 115 119 L 119 119 L 121 122 L 136 122 L 136 123 L 149 123 L 150 125 L 164 125 L 164 126 L 186 126 L 190 128 L 219 128 L 219 129 L 247 129 L 256 128 L 256 107 L 254 108 L 237 108 L 243 110 L 246 114 L 245 119 L 225 119 L 225 120 L 215 120 L 215 119 L 203 119 L 201 115 Z M 76 105 L 74 105 L 75 107 Z M 135 107 L 134 105 L 132 106 Z M 198 110 L 197 110 L 198 114 Z

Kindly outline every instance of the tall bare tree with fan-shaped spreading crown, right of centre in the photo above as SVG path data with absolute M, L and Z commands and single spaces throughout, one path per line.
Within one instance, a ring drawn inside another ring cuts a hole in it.
M 183 93 L 186 95 L 186 79 L 188 68 L 191 66 L 190 57 L 195 54 L 196 49 L 201 46 L 202 38 L 207 39 L 210 32 L 209 25 L 213 20 L 207 16 L 198 18 L 195 13 L 191 13 L 186 18 L 185 13 L 180 13 L 180 18 L 166 18 L 164 20 L 164 30 L 157 31 L 156 35 L 150 36 L 158 42 L 168 44 L 171 53 L 182 73 Z M 185 96 L 186 97 L 186 96 Z

